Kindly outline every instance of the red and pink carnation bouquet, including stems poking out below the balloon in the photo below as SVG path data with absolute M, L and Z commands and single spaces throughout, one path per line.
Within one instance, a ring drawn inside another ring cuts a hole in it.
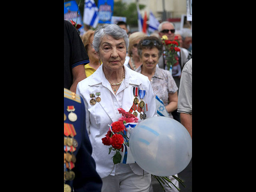
M 102 143 L 107 146 L 111 146 L 109 148 L 109 153 L 111 150 L 116 151 L 116 154 L 114 154 L 113 162 L 114 164 L 120 163 L 122 159 L 122 155 L 120 152 L 123 152 L 124 150 L 124 145 L 129 147 L 129 138 L 127 136 L 127 132 L 130 133 L 132 128 L 136 126 L 138 123 L 138 118 L 134 116 L 133 114 L 130 114 L 129 112 L 126 112 L 122 108 L 118 108 L 119 114 L 122 114 L 122 117 L 118 119 L 116 122 L 112 122 L 111 125 L 109 125 L 109 129 L 107 134 L 105 135 L 106 137 L 102 138 Z M 132 125 L 130 124 L 132 123 Z M 132 127 L 131 127 L 132 126 Z M 168 176 L 163 177 L 163 176 L 155 176 L 152 175 L 156 180 L 159 182 L 159 184 L 162 186 L 162 184 L 167 184 L 170 188 L 170 184 L 174 186 L 177 190 L 180 190 L 180 188 L 177 188 L 170 180 Z M 178 182 L 181 184 L 184 183 L 180 178 L 176 176 L 172 176 Z M 170 183 L 170 184 L 169 184 Z M 184 186 L 182 184 L 182 186 Z M 185 187 L 185 186 L 184 186 Z M 162 189 L 164 190 L 164 187 L 162 186 Z M 164 190 L 165 192 L 165 190 Z

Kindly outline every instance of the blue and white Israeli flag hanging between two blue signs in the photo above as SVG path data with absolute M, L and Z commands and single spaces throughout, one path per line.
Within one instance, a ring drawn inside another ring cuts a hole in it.
M 84 1 L 84 18 L 83 22 L 86 25 L 90 25 L 96 28 L 99 22 L 98 7 L 94 3 L 94 0 Z

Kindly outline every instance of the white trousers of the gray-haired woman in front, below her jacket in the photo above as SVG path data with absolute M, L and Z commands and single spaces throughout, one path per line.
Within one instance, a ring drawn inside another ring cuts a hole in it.
M 149 192 L 151 174 L 144 176 L 136 175 L 134 172 L 109 175 L 102 178 L 101 192 Z

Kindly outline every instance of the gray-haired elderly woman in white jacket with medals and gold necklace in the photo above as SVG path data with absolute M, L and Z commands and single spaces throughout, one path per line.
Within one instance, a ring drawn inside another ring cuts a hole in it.
M 86 107 L 86 128 L 96 170 L 103 181 L 102 192 L 148 192 L 151 182 L 151 174 L 136 163 L 114 165 L 112 156 L 115 152 L 108 154 L 109 146 L 102 144 L 108 125 L 121 117 L 117 109 L 123 108 L 128 112 L 132 107 L 134 87 L 145 90 L 146 118 L 157 116 L 154 92 L 148 77 L 124 66 L 128 44 L 128 35 L 119 26 L 99 26 L 94 34 L 93 47 L 103 64 L 94 74 L 79 82 L 76 90 Z M 140 96 L 138 98 L 140 100 Z M 143 119 L 139 116 L 140 122 Z

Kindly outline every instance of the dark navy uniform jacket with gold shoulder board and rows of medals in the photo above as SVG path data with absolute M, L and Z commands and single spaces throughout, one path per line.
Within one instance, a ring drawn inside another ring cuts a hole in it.
M 66 184 L 74 187 L 75 192 L 100 192 L 102 180 L 96 172 L 96 164 L 91 156 L 92 145 L 86 131 L 84 102 L 80 96 L 64 88 L 64 140 L 72 138 L 73 135 L 73 146 L 65 145 L 64 141 L 64 157 L 68 151 L 69 154 L 73 153 L 76 156 L 74 165 L 73 159 L 69 164 L 66 162 L 66 165 L 64 158 L 64 172 L 69 172 L 68 166 L 71 166 L 71 171 L 75 173 L 74 180 L 67 180 Z

